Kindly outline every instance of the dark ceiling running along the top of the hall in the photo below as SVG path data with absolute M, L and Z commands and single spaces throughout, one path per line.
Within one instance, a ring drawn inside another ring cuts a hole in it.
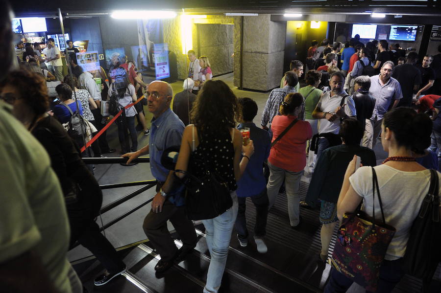
M 22 0 L 11 1 L 16 16 L 105 14 L 116 9 L 169 9 L 187 13 L 253 12 L 281 14 L 357 14 L 367 11 L 441 16 L 440 0 Z

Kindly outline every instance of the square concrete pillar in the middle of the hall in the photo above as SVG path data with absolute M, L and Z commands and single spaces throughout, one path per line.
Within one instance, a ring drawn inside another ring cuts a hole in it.
M 279 87 L 283 75 L 285 38 L 286 23 L 271 22 L 269 14 L 245 16 L 243 23 L 242 17 L 235 17 L 234 85 L 241 86 L 242 74 L 242 88 L 267 91 Z

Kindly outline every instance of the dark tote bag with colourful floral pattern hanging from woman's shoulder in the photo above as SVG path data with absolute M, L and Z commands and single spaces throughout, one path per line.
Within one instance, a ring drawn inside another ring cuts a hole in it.
M 382 221 L 375 220 L 375 189 L 380 203 Z M 372 167 L 372 217 L 360 210 L 345 213 L 337 232 L 331 266 L 341 274 L 376 292 L 380 267 L 396 230 L 387 225 L 377 175 Z

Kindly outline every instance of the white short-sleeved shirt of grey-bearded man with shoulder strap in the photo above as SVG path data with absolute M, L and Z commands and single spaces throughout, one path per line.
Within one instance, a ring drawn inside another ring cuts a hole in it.
M 342 98 L 347 95 L 347 93 L 343 90 L 340 94 L 335 94 L 331 97 L 332 91 L 327 91 L 323 94 L 323 96 L 319 99 L 319 103 L 317 103 L 317 108 L 320 109 L 320 112 L 329 112 L 335 113 L 335 109 L 340 106 L 342 102 Z M 355 103 L 351 96 L 347 96 L 344 100 L 344 113 L 348 116 L 355 116 Z M 338 134 L 340 131 L 340 119 L 337 118 L 333 122 L 328 121 L 325 118 L 319 119 L 319 133 L 328 133 L 332 132 Z

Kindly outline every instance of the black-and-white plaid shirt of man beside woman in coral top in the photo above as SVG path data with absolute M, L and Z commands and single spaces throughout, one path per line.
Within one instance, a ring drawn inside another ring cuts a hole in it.
M 285 86 L 283 89 L 274 89 L 271 91 L 268 97 L 267 104 L 265 105 L 264 112 L 262 113 L 262 119 L 260 125 L 267 126 L 268 123 L 272 122 L 272 118 L 275 115 L 280 115 L 279 108 L 283 102 L 283 99 L 289 93 L 296 92 L 294 87 Z M 303 99 L 302 110 L 300 111 L 298 118 L 305 121 L 305 100 Z

